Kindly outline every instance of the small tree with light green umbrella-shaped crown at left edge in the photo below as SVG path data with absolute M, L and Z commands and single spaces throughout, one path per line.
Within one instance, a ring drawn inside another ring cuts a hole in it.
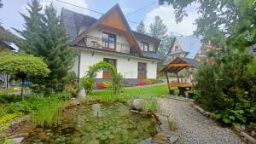
M 47 76 L 49 69 L 42 59 L 33 55 L 8 54 L 0 57 L 0 72 L 14 74 L 24 82 L 28 76 Z M 23 86 L 21 95 L 23 95 Z

